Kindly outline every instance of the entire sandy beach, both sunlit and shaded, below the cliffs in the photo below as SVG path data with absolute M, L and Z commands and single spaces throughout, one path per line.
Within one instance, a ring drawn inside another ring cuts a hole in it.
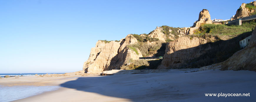
M 256 72 L 207 70 L 184 73 L 91 74 L 65 77 L 0 79 L 1 85 L 55 85 L 56 91 L 44 92 L 15 102 L 166 102 L 166 101 L 256 101 Z M 250 93 L 251 96 L 213 97 L 205 93 Z

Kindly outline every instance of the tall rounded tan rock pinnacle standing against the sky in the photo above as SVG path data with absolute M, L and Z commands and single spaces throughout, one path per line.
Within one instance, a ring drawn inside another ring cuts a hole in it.
M 212 24 L 210 13 L 206 9 L 199 13 L 199 18 L 192 27 L 200 27 L 201 24 Z

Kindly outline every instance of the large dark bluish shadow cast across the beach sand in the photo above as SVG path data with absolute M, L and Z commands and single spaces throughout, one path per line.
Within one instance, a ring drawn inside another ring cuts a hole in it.
M 255 72 L 252 71 L 126 74 L 82 77 L 65 82 L 60 86 L 104 96 L 129 99 L 134 102 L 256 101 L 254 96 L 226 98 L 204 96 L 204 93 L 220 92 L 250 92 L 251 95 L 255 95 L 255 77 Z

